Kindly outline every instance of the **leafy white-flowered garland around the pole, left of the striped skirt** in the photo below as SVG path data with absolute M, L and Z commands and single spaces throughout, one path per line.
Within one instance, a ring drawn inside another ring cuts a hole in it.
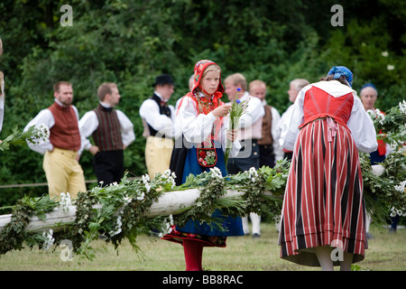
M 283 161 L 274 169 L 263 167 L 258 171 L 240 172 L 235 176 L 225 178 L 221 176 L 221 172 L 217 168 L 214 168 L 210 172 L 203 172 L 198 176 L 190 175 L 187 182 L 178 187 L 174 185 L 175 175 L 170 171 L 157 174 L 152 181 L 148 174 L 143 175 L 141 180 L 129 180 L 128 173 L 126 173 L 125 178 L 119 184 L 113 183 L 106 187 L 100 186 L 87 192 L 79 192 L 78 198 L 73 201 L 77 209 L 76 219 L 72 224 L 65 225 L 60 232 L 50 230 L 48 233 L 34 234 L 24 231 L 24 228 L 28 225 L 32 215 L 43 215 L 44 212 L 56 207 L 69 210 L 69 198 L 62 198 L 63 200 L 60 202 L 50 200 L 47 196 L 35 200 L 24 198 L 22 205 L 15 206 L 12 222 L 0 231 L 2 248 L 0 254 L 5 254 L 13 249 L 21 249 L 23 242 L 30 244 L 30 247 L 38 245 L 47 248 L 52 244 L 59 244 L 64 239 L 69 239 L 75 253 L 91 260 L 95 253 L 90 243 L 100 236 L 106 242 L 112 242 L 115 249 L 119 247 L 124 238 L 127 238 L 134 251 L 142 253 L 136 241 L 138 236 L 152 232 L 163 236 L 171 232 L 173 224 L 182 226 L 189 219 L 198 219 L 200 222 L 207 222 L 210 226 L 224 229 L 220 226 L 221 220 L 211 217 L 212 212 L 217 209 L 226 210 L 227 214 L 233 216 L 246 216 L 251 211 L 279 214 L 282 194 L 264 196 L 263 191 L 269 188 L 278 188 L 283 191 L 289 165 L 287 161 Z M 179 214 L 154 218 L 144 216 L 152 202 L 158 200 L 163 192 L 191 188 L 197 188 L 200 196 L 194 205 L 183 208 Z M 243 197 L 220 199 L 225 195 L 227 189 L 235 190 L 236 188 L 239 191 L 245 191 Z M 34 205 L 27 206 L 26 200 L 32 200 Z M 40 206 L 35 205 L 39 203 L 39 200 L 46 203 L 46 206 L 42 206 L 46 210 L 39 210 Z M 28 210 L 32 207 L 37 207 L 37 209 Z M 14 232 L 14 242 L 9 242 L 12 234 L 8 231 L 9 228 L 14 227 L 16 228 L 14 231 L 18 232 L 18 235 Z

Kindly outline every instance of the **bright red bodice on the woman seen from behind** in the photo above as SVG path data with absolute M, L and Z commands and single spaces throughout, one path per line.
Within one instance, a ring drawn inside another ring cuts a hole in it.
M 323 89 L 312 87 L 306 91 L 303 100 L 304 123 L 306 126 L 320 117 L 332 117 L 338 124 L 346 126 L 354 105 L 352 93 L 335 98 Z

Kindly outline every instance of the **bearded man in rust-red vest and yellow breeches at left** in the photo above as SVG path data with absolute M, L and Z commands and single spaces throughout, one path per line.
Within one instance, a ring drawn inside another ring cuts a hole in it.
M 78 128 L 78 108 L 72 105 L 72 85 L 59 81 L 54 85 L 55 101 L 42 109 L 24 131 L 31 126 L 47 126 L 50 136 L 38 144 L 28 146 L 43 154 L 42 167 L 47 177 L 51 198 L 60 199 L 60 193 L 69 192 L 72 199 L 79 191 L 87 191 L 83 170 L 78 163 L 82 150 L 83 135 Z

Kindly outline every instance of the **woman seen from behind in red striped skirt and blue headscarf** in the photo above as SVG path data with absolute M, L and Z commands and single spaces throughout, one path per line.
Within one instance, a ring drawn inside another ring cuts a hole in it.
M 374 152 L 377 143 L 352 81 L 352 72 L 338 66 L 301 89 L 281 134 L 281 145 L 293 151 L 281 212 L 281 258 L 322 270 L 349 270 L 367 248 L 358 150 Z

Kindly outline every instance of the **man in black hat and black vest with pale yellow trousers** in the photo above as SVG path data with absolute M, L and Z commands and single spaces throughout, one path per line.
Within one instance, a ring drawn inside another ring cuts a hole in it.
M 151 180 L 156 173 L 168 170 L 173 148 L 175 109 L 168 105 L 175 83 L 169 74 L 161 74 L 152 84 L 151 98 L 143 101 L 140 117 L 143 119 L 145 164 Z

